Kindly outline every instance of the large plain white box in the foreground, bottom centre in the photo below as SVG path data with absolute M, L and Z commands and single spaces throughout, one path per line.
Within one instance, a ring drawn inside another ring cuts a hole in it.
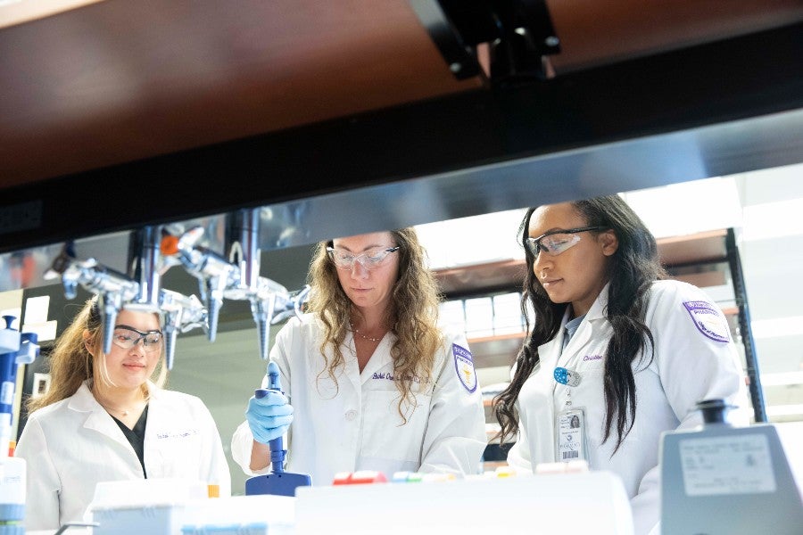
M 614 473 L 300 487 L 295 535 L 633 535 Z

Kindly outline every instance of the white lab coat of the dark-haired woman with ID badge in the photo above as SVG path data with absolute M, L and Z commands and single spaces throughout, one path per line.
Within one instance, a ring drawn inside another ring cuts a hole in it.
M 551 342 L 539 347 L 541 364 L 523 385 L 518 397 L 519 439 L 508 454 L 509 465 L 525 471 L 538 463 L 555 462 L 555 414 L 564 409 L 567 387 L 553 378 L 556 366 L 575 370 L 581 383 L 572 388 L 573 407 L 584 407 L 589 464 L 592 470 L 617 473 L 631 498 L 635 533 L 648 533 L 660 518 L 658 444 L 662 432 L 689 429 L 702 422 L 695 404 L 701 399 L 724 398 L 741 407 L 732 414 L 734 424 L 748 424 L 749 407 L 741 362 L 727 330 L 725 318 L 706 311 L 708 326 L 716 325 L 717 341 L 697 326 L 702 314 L 693 316 L 684 302 L 706 301 L 705 292 L 674 280 L 652 285 L 646 324 L 655 340 L 655 358 L 649 366 L 633 362 L 636 385 L 636 416 L 633 429 L 616 453 L 617 432 L 602 443 L 605 424 L 603 371 L 605 350 L 613 333 L 603 315 L 608 286 L 561 354 L 563 329 Z M 710 322 L 715 322 L 711 324 Z M 563 325 L 567 317 L 563 319 Z M 712 331 L 709 331 L 712 333 Z M 616 419 L 614 419 L 614 426 Z M 571 497 L 567 497 L 571 499 Z

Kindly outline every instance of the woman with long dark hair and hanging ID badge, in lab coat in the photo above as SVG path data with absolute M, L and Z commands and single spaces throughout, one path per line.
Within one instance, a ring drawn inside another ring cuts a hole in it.
M 727 322 L 705 292 L 666 280 L 655 238 L 617 195 L 528 210 L 520 232 L 535 317 L 494 400 L 502 436 L 518 433 L 509 465 L 585 459 L 617 473 L 636 533 L 649 533 L 661 433 L 700 424 L 701 399 L 747 405 Z

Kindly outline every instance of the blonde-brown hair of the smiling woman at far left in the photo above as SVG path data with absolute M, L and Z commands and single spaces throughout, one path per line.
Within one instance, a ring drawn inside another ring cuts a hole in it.
M 28 400 L 26 407 L 29 413 L 37 408 L 47 407 L 57 401 L 69 398 L 87 379 L 94 383 L 95 377 L 98 377 L 106 385 L 113 386 L 106 369 L 106 359 L 92 356 L 95 353 L 95 355 L 105 357 L 103 354 L 103 324 L 97 299 L 97 297 L 92 297 L 87 300 L 73 318 L 72 323 L 64 329 L 62 335 L 55 342 L 50 354 L 50 388 L 44 396 Z M 87 342 L 84 341 L 85 332 L 89 333 Z M 92 352 L 87 349 L 87 345 L 92 348 Z M 161 357 L 151 378 L 153 383 L 160 387 L 167 382 L 167 366 L 164 366 L 163 349 Z M 142 388 L 145 399 L 147 399 L 147 386 L 143 384 Z

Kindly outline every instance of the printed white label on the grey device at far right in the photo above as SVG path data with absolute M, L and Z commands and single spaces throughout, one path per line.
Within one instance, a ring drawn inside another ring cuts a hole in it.
M 686 439 L 679 448 L 688 496 L 775 491 L 773 459 L 763 434 Z

